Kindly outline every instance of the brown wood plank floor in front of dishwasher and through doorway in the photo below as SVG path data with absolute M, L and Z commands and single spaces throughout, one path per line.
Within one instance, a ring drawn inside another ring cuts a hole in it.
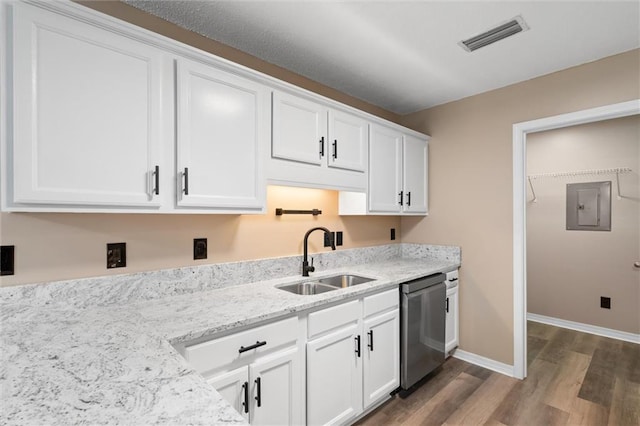
M 528 377 L 449 358 L 369 425 L 640 425 L 640 345 L 528 322 Z

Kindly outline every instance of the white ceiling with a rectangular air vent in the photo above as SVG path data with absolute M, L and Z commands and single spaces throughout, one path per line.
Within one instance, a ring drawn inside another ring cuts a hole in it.
M 124 1 L 399 114 L 640 47 L 638 0 Z M 517 15 L 530 30 L 458 46 Z

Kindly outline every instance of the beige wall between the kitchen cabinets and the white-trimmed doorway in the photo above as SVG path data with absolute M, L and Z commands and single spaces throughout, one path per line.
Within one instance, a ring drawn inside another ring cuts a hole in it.
M 513 363 L 513 124 L 640 98 L 638 75 L 634 50 L 403 118 L 432 139 L 430 214 L 401 239 L 462 247 L 463 350 Z

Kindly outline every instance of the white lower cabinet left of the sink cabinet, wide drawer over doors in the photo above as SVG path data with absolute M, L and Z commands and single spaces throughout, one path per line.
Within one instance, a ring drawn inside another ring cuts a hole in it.
M 252 425 L 304 424 L 298 318 L 187 346 L 184 356 Z

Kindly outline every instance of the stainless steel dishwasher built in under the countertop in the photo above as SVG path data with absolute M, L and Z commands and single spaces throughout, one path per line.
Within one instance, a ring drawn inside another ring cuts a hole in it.
M 444 362 L 445 279 L 445 274 L 433 274 L 400 286 L 401 392 Z

